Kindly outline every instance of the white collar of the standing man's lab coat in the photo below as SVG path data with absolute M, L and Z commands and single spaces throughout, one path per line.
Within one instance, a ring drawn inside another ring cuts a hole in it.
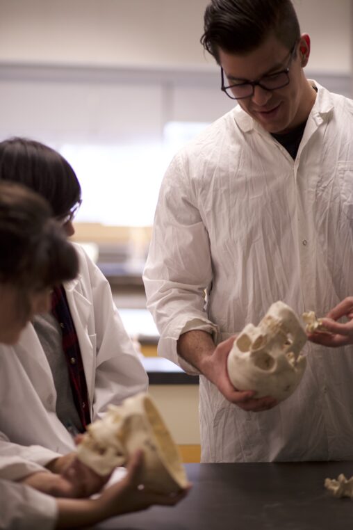
M 329 93 L 329 90 L 321 86 L 316 81 L 313 81 L 311 79 L 309 79 L 308 81 L 309 83 L 311 83 L 311 85 L 315 86 L 318 89 L 318 94 L 316 96 L 315 103 L 313 104 L 313 109 L 311 109 L 310 115 L 312 116 L 316 124 L 320 125 L 322 122 L 329 120 L 329 118 L 331 117 L 332 111 L 334 109 L 334 102 L 332 100 L 331 94 Z M 261 134 L 266 132 L 263 127 L 261 127 L 258 122 L 256 122 L 251 116 L 249 116 L 249 114 L 243 111 L 243 109 L 239 105 L 236 106 L 233 113 L 234 120 L 243 132 L 247 133 L 249 131 L 252 131 L 252 129 L 260 132 Z M 266 134 L 268 133 L 266 132 Z

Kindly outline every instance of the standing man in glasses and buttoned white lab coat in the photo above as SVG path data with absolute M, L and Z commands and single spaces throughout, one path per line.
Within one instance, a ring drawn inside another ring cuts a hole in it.
M 202 462 L 350 460 L 352 346 L 308 342 L 281 403 L 233 387 L 227 357 L 277 300 L 323 315 L 353 292 L 353 102 L 306 79 L 290 0 L 211 0 L 201 42 L 234 107 L 163 179 L 143 275 L 158 351 L 199 376 Z

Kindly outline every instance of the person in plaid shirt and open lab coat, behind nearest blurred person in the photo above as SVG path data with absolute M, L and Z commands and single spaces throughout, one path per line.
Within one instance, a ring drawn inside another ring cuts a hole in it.
M 58 152 L 25 138 L 0 142 L 0 182 L 39 193 L 67 236 L 74 234 L 81 188 Z M 7 403 L 0 410 L 0 428 L 14 444 L 42 446 L 45 458 L 40 451 L 33 458 L 54 472 L 74 458 L 75 435 L 101 417 L 109 403 L 120 404 L 148 383 L 108 281 L 83 248 L 72 244 L 79 275 L 54 286 L 50 310 L 27 324 L 17 344 L 0 346 L 0 399 Z M 17 387 L 6 387 L 15 376 Z

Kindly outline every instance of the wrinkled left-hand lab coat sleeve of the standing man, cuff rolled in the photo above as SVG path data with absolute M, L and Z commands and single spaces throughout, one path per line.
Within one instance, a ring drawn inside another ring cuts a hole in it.
M 177 355 L 177 339 L 192 329 L 217 335 L 217 326 L 205 311 L 205 289 L 213 278 L 208 232 L 186 167 L 177 155 L 163 179 L 143 280 L 161 334 L 158 353 L 198 374 Z

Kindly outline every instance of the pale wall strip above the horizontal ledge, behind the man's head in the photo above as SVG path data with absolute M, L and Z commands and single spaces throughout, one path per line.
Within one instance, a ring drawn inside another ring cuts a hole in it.
M 0 0 L 0 62 L 214 67 L 199 38 L 208 0 Z M 351 0 L 294 0 L 311 70 L 350 73 Z

